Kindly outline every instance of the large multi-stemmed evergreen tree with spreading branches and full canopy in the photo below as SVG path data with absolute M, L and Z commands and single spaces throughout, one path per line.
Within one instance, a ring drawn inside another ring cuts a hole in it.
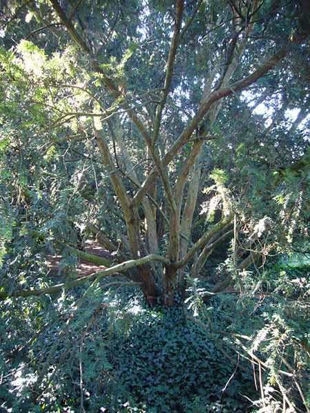
M 12 294 L 135 267 L 124 274 L 149 304 L 171 306 L 224 240 L 227 284 L 307 236 L 307 5 L 2 6 L 3 235 L 12 239 L 15 217 L 19 235 L 31 227 L 38 242 L 74 246 L 78 225 L 117 262 Z M 273 110 L 269 120 L 254 110 L 262 104 Z M 8 295 L 6 287 L 0 297 Z

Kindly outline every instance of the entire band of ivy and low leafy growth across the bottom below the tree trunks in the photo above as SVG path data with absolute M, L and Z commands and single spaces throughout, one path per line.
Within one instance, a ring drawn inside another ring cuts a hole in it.
M 7 299 L 0 411 L 276 413 L 285 403 L 302 412 L 309 269 L 280 263 L 243 273 L 238 295 L 207 303 L 196 282 L 185 308 L 147 308 L 134 287 L 97 288 L 78 310 L 80 288 Z

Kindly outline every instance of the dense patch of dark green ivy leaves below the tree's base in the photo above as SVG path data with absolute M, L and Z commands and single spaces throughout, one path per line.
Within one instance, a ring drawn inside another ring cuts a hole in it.
M 127 336 L 110 344 L 110 354 L 116 394 L 127 410 L 139 405 L 143 411 L 145 405 L 147 412 L 149 406 L 154 412 L 189 412 L 195 401 L 211 407 L 232 370 L 203 330 L 187 325 L 179 308 L 138 315 Z M 223 399 L 232 412 L 247 404 L 234 384 Z

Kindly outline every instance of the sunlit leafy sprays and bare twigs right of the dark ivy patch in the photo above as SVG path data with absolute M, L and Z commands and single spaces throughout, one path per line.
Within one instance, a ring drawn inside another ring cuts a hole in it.
M 202 301 L 207 286 L 191 288 L 187 305 L 214 340 L 223 338 L 220 346 L 235 349 L 242 366 L 248 357 L 252 361 L 261 396 L 252 401 L 259 412 L 282 412 L 278 392 L 293 411 L 309 405 L 309 277 L 309 260 L 288 259 L 241 273 L 236 290 L 212 297 L 208 306 Z

